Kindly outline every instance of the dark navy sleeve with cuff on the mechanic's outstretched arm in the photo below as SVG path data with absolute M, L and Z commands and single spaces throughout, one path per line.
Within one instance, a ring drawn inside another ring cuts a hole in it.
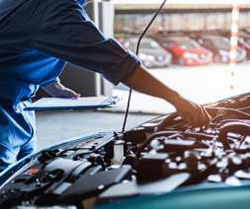
M 118 84 L 140 65 L 133 53 L 106 38 L 77 0 L 45 1 L 32 44 L 51 56 L 99 72 Z M 53 2 L 53 3 L 52 3 Z

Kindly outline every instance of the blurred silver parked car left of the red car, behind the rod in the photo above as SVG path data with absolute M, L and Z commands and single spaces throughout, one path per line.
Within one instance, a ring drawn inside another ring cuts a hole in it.
M 138 37 L 127 38 L 123 41 L 123 45 L 135 52 L 137 42 Z M 152 38 L 142 39 L 139 58 L 147 68 L 167 67 L 172 63 L 172 55 Z

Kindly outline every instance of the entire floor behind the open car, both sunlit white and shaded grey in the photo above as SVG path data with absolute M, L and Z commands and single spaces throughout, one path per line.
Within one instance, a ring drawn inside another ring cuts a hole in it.
M 175 88 L 185 97 L 199 103 L 210 103 L 234 94 L 249 91 L 249 64 L 237 64 L 235 69 L 235 89 L 230 90 L 231 69 L 228 65 L 211 64 L 192 68 L 171 66 L 167 69 L 154 69 L 152 74 L 163 83 Z M 123 97 L 112 109 L 125 109 L 128 92 L 116 88 L 114 94 Z M 142 105 L 143 104 L 143 105 Z M 132 112 L 167 113 L 174 108 L 163 100 L 133 92 Z M 156 115 L 131 114 L 127 129 L 135 127 Z M 97 111 L 51 111 L 37 112 L 38 148 L 42 149 L 72 137 L 100 132 L 121 131 L 124 114 Z

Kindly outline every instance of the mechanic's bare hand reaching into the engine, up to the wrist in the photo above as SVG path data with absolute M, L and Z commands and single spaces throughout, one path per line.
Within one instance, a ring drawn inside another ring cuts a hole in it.
M 193 127 L 207 125 L 211 120 L 211 116 L 202 105 L 189 101 L 182 96 L 175 101 L 174 105 L 182 119 Z

